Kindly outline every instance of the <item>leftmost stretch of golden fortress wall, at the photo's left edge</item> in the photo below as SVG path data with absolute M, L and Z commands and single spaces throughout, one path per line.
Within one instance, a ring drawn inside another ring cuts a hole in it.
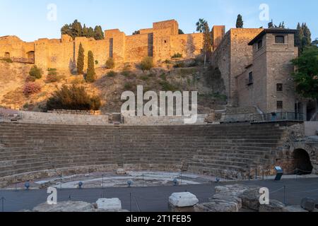
M 28 52 L 34 51 L 34 42 L 23 42 L 16 36 L 0 37 L 0 57 L 28 58 Z

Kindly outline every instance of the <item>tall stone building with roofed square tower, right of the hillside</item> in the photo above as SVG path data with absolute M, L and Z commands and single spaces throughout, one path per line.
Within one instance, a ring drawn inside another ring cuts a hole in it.
M 317 102 L 295 93 L 292 59 L 298 57 L 296 30 L 230 29 L 212 53 L 211 64 L 225 81 L 228 104 L 263 113 L 290 112 L 317 120 Z M 303 115 L 302 115 L 303 114 Z M 290 117 L 290 116 L 289 116 Z

